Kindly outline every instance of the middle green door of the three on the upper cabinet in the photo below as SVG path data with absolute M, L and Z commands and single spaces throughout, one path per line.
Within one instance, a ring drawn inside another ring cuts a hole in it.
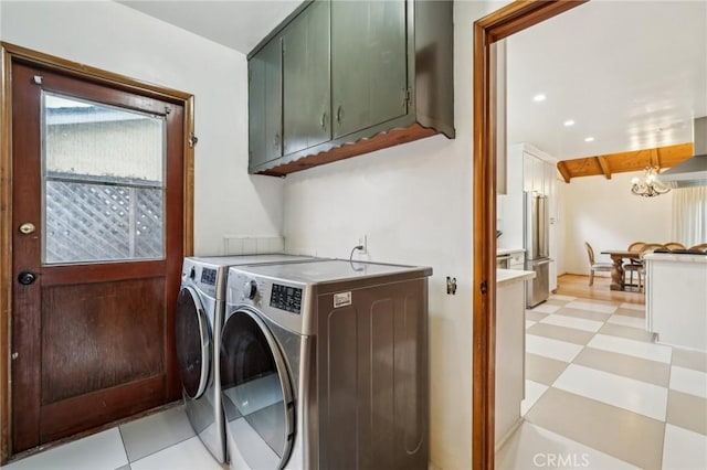
M 331 138 L 329 2 L 315 1 L 283 34 L 284 153 Z

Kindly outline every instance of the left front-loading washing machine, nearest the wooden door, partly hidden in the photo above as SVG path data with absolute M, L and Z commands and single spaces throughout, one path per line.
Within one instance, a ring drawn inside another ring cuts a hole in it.
M 219 393 L 219 344 L 230 266 L 315 259 L 293 255 L 184 258 L 175 316 L 175 345 L 187 415 L 194 431 L 219 461 L 226 460 Z

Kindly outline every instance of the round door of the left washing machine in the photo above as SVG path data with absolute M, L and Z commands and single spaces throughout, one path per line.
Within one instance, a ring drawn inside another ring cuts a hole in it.
M 182 388 L 189 398 L 199 398 L 209 384 L 211 333 L 199 295 L 191 287 L 179 291 L 175 333 Z

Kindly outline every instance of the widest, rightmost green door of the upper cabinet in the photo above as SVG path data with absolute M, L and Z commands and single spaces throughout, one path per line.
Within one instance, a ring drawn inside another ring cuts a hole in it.
M 331 97 L 338 138 L 408 113 L 405 2 L 331 2 Z

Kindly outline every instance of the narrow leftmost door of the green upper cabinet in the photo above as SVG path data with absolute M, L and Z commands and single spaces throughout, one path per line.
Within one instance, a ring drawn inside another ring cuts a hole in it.
M 274 39 L 249 62 L 250 167 L 282 153 L 282 44 Z

